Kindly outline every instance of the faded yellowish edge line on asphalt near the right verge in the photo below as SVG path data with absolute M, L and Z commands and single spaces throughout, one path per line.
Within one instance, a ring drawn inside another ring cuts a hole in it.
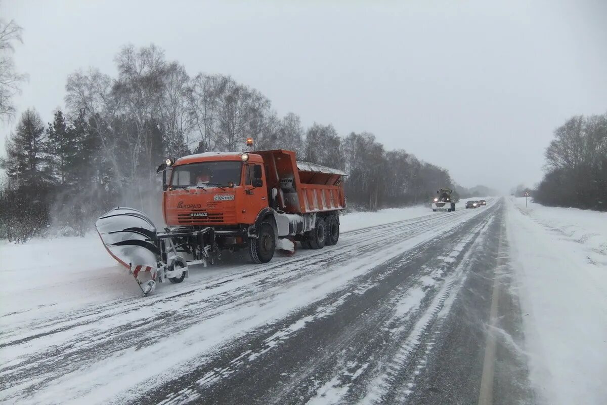
M 498 283 L 497 269 L 506 260 L 501 255 L 503 227 L 500 230 L 498 242 L 497 263 L 493 271 L 493 292 L 491 296 L 491 309 L 489 311 L 489 328 L 487 328 L 487 342 L 483 359 L 483 375 L 481 376 L 481 389 L 478 395 L 478 405 L 491 405 L 493 403 L 493 375 L 495 374 L 495 326 L 497 325 L 497 308 L 499 301 L 500 286 Z

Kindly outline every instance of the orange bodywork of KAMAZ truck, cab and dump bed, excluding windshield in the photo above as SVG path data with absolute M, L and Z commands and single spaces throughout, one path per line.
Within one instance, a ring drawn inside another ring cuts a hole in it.
M 344 172 L 311 163 L 296 162 L 293 151 L 249 152 L 243 162 L 240 153 L 198 154 L 180 158 L 172 168 L 164 191 L 163 214 L 169 226 L 239 227 L 255 223 L 264 208 L 290 214 L 317 213 L 345 208 Z M 203 185 L 203 188 L 171 186 L 182 165 L 203 162 L 234 162 L 240 165 L 233 186 Z M 260 166 L 262 186 L 253 186 L 253 166 Z M 298 168 L 299 166 L 299 168 Z M 276 199 L 273 189 L 277 190 Z

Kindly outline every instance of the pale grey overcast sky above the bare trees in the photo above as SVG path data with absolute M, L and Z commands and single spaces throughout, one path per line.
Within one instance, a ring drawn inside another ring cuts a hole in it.
M 567 118 L 607 112 L 607 1 L 284 3 L 2 0 L 0 16 L 24 28 L 18 110 L 50 121 L 70 72 L 114 75 L 121 46 L 154 43 L 305 126 L 373 132 L 461 185 L 504 192 L 541 179 Z M 13 128 L 0 124 L 2 152 Z

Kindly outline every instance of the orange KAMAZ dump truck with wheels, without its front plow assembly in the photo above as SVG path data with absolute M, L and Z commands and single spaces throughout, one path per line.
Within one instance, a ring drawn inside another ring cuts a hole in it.
M 276 239 L 293 237 L 320 249 L 339 238 L 344 172 L 297 162 L 295 152 L 207 152 L 161 165 L 164 222 L 170 228 L 214 230 L 220 250 L 248 248 L 272 259 Z M 170 173 L 170 175 L 169 175 Z

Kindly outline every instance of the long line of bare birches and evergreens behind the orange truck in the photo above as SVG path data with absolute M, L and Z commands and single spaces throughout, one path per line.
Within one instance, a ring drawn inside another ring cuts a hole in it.
M 300 160 L 345 170 L 348 204 L 375 210 L 429 201 L 453 187 L 446 169 L 402 149 L 388 151 L 369 132 L 337 134 L 331 124 L 304 128 L 265 95 L 226 75 L 168 61 L 151 45 L 125 46 L 117 75 L 98 69 L 67 77 L 65 111 L 44 124 L 23 112 L 0 160 L 0 237 L 27 240 L 48 230 L 82 235 L 94 219 L 129 205 L 161 222 L 160 179 L 166 157 L 206 151 L 290 149 Z

